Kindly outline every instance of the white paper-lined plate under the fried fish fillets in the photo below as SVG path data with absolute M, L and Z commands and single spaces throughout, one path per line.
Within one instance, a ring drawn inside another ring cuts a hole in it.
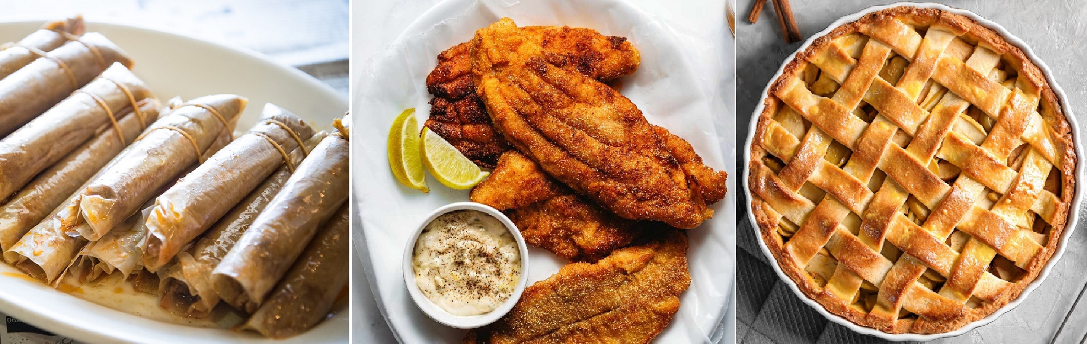
M 468 192 L 450 189 L 433 177 L 427 179 L 429 194 L 400 185 L 389 171 L 388 131 L 396 115 L 408 108 L 416 109 L 420 123 L 426 119 L 430 96 L 425 78 L 437 63 L 438 53 L 470 40 L 476 29 L 502 16 L 510 16 L 521 26 L 580 26 L 626 37 L 641 52 L 641 65 L 620 79 L 621 93 L 638 106 L 650 123 L 687 139 L 708 165 L 725 171 L 732 171 L 734 165 L 724 158 L 732 157 L 734 140 L 719 134 L 734 125 L 734 119 L 722 110 L 723 102 L 713 98 L 719 81 L 705 82 L 715 76 L 703 75 L 704 69 L 700 73 L 690 62 L 698 49 L 684 47 L 678 34 L 658 17 L 620 0 L 438 3 L 364 69 L 353 72 L 360 74 L 352 84 L 355 126 L 351 172 L 359 216 L 354 223 L 361 223 L 361 229 L 354 228 L 352 239 L 378 308 L 402 343 L 459 343 L 464 336 L 464 330 L 445 327 L 415 307 L 404 285 L 400 257 L 417 221 L 443 205 L 467 200 Z M 730 198 L 732 194 L 725 199 Z M 713 208 L 713 219 L 687 232 L 691 284 L 680 298 L 678 314 L 658 336 L 659 343 L 702 343 L 723 333 L 719 324 L 730 307 L 734 281 L 735 206 L 726 200 Z M 529 248 L 528 256 L 528 283 L 550 277 L 566 263 L 535 247 Z

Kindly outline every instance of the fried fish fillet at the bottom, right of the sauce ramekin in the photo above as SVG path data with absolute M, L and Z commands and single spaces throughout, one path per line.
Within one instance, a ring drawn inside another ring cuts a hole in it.
M 562 267 L 463 343 L 648 343 L 672 321 L 690 285 L 687 235 L 660 234 L 596 263 Z

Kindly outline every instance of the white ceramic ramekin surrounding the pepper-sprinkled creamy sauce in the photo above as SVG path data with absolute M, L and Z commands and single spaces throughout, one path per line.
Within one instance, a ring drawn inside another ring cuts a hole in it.
M 426 295 L 423 295 L 423 292 L 420 291 L 418 286 L 415 284 L 415 269 L 412 266 L 412 256 L 414 255 L 415 242 L 418 241 L 418 235 L 423 233 L 423 229 L 426 229 L 426 225 L 429 224 L 430 221 L 434 221 L 434 219 L 443 213 L 454 210 L 478 210 L 495 217 L 502 222 L 503 225 L 505 225 L 505 230 L 510 231 L 510 234 L 513 235 L 513 239 L 517 243 L 517 250 L 521 254 L 521 278 L 517 280 L 517 287 L 513 290 L 513 294 L 511 294 L 510 298 L 502 303 L 501 306 L 495 308 L 495 310 L 486 315 L 466 317 L 450 315 L 448 311 L 430 302 Z M 528 265 L 526 263 L 528 257 L 528 246 L 525 245 L 525 238 L 521 236 L 521 231 L 518 231 L 517 226 L 513 224 L 513 221 L 510 221 L 510 218 L 507 218 L 501 211 L 498 211 L 498 209 L 491 208 L 487 205 L 474 201 L 459 201 L 435 209 L 429 216 L 426 217 L 426 219 L 423 219 L 423 221 L 420 222 L 418 228 L 415 229 L 415 233 L 411 236 L 411 241 L 409 241 L 405 246 L 403 274 L 404 283 L 408 285 L 408 294 L 411 294 L 411 299 L 415 302 L 415 305 L 418 306 L 418 308 L 422 309 L 426 316 L 445 325 L 458 329 L 475 329 L 495 322 L 513 308 L 513 305 L 521 299 L 521 293 L 525 291 L 525 282 L 528 280 Z

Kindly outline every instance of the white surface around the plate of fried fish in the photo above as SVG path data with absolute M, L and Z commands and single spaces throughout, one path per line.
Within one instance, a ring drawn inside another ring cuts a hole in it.
M 400 35 L 401 32 L 412 21 L 423 12 L 437 3 L 438 0 L 359 0 L 352 1 L 351 8 L 351 67 L 361 70 L 368 63 L 371 57 L 382 51 Z M 678 30 L 692 36 L 700 37 L 705 41 L 713 42 L 710 46 L 692 46 L 691 49 L 703 49 L 707 51 L 708 60 L 733 61 L 733 39 L 728 33 L 728 26 L 724 20 L 725 10 L 721 0 L 697 0 L 685 1 L 683 3 L 661 2 L 652 0 L 632 0 L 644 10 L 658 14 Z M 703 63 L 708 73 L 720 73 L 722 75 L 722 88 L 733 89 L 733 66 L 720 65 L 717 63 Z M 351 75 L 352 78 L 355 75 Z M 726 85 L 727 84 L 727 85 Z M 357 85 L 354 79 L 351 85 Z M 722 100 L 727 105 L 734 105 L 734 93 L 722 93 Z M 354 98 L 354 97 L 352 97 Z M 735 109 L 729 106 L 730 109 Z M 723 114 L 729 115 L 732 114 Z M 726 133 L 732 137 L 733 133 Z M 726 152 L 730 156 L 732 152 Z M 359 181 L 355 181 L 359 182 Z M 725 259 L 732 259 L 727 257 Z M 357 261 L 358 262 L 358 261 Z M 364 271 L 360 263 L 352 267 L 352 340 L 355 343 L 391 343 L 395 341 L 391 332 L 385 324 L 376 304 L 372 298 L 360 297 L 360 295 L 372 295 L 370 286 L 365 281 Z M 734 317 L 726 317 L 729 321 L 722 324 L 726 331 L 722 343 L 732 343 L 734 325 L 730 320 Z

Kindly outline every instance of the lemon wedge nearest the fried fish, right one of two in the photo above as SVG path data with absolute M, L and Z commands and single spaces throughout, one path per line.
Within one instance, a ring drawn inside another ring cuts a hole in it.
M 423 128 L 423 164 L 438 182 L 455 189 L 468 189 L 490 175 L 457 150 L 445 138 Z

